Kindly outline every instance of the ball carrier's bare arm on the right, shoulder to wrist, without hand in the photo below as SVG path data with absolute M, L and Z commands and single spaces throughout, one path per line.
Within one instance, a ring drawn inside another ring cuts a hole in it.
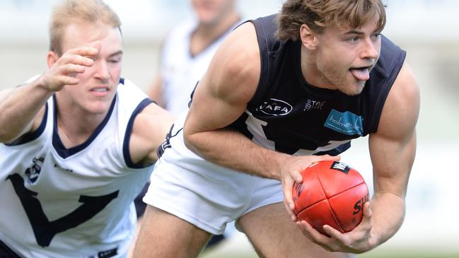
M 416 154 L 419 89 L 404 64 L 385 103 L 378 131 L 369 137 L 373 164 L 373 228 L 378 245 L 391 238 L 405 217 L 409 173 Z

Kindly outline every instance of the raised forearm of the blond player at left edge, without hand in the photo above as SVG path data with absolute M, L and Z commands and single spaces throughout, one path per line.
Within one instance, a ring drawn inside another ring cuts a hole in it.
M 33 122 L 37 112 L 52 95 L 42 87 L 41 79 L 25 86 L 6 90 L 0 96 L 0 141 L 8 142 L 21 135 Z

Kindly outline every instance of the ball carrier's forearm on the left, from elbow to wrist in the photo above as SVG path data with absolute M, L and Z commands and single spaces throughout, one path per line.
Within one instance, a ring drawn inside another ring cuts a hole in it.
M 185 134 L 185 144 L 212 163 L 276 180 L 281 180 L 280 164 L 289 158 L 287 154 L 258 146 L 243 134 L 230 129 Z

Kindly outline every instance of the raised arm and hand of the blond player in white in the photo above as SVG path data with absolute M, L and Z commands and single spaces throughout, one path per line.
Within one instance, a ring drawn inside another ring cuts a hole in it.
M 78 84 L 74 74 L 81 74 L 85 66 L 92 66 L 94 61 L 88 57 L 97 53 L 94 47 L 71 49 L 60 58 L 50 52 L 50 70 L 30 83 L 0 92 L 0 142 L 12 141 L 36 129 L 48 98 L 66 85 Z

